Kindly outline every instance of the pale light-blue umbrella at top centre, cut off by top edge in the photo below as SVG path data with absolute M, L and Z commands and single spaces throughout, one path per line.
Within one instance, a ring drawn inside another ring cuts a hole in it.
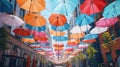
M 57 12 L 60 14 L 71 15 L 73 11 L 78 5 L 78 0 L 53 0 L 57 1 L 56 3 L 53 2 L 53 12 Z M 54 5 L 55 4 L 55 5 Z

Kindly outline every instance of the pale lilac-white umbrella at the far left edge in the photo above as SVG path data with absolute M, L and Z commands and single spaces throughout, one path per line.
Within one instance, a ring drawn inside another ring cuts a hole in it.
M 13 27 L 19 27 L 25 23 L 21 18 L 9 14 L 1 14 L 0 21 L 8 26 Z

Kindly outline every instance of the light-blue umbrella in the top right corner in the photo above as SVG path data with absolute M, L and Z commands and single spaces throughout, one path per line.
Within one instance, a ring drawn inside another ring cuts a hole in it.
M 105 18 L 117 17 L 120 15 L 120 1 L 114 1 L 105 7 L 103 11 L 103 16 Z

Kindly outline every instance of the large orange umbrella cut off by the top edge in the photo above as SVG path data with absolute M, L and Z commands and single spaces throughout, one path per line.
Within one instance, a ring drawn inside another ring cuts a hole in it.
M 17 0 L 18 5 L 30 12 L 40 12 L 45 9 L 44 0 Z

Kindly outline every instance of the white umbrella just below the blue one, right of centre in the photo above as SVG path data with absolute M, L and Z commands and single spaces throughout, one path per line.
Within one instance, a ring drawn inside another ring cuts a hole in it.
M 71 33 L 82 33 L 82 32 L 86 32 L 87 30 L 89 30 L 91 28 L 90 25 L 83 25 L 83 26 L 75 26 L 72 28 L 72 30 L 70 31 Z

